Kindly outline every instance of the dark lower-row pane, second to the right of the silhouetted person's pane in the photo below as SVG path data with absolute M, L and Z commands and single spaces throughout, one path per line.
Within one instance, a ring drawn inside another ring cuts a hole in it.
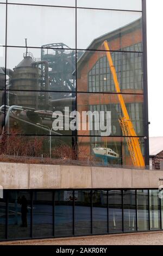
M 68 236 L 73 234 L 73 192 L 55 191 L 55 236 Z

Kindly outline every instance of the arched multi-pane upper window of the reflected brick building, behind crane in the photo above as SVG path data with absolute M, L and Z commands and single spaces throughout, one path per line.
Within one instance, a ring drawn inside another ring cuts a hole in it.
M 124 48 L 123 52 L 112 52 L 118 82 L 121 90 L 143 89 L 142 53 L 127 52 L 132 46 Z M 133 46 L 140 48 L 140 44 Z M 132 49 L 132 48 L 131 48 Z M 89 92 L 116 92 L 112 79 L 108 59 L 106 56 L 98 59 L 88 74 Z

